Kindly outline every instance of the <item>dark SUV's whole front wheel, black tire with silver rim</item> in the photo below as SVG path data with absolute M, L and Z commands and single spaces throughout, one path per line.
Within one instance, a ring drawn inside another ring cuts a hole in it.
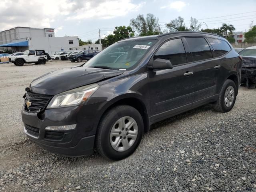
M 130 128 L 129 122 L 133 122 Z M 140 144 L 143 127 L 142 116 L 135 108 L 128 105 L 116 106 L 106 112 L 100 120 L 96 134 L 96 149 L 110 160 L 124 159 Z

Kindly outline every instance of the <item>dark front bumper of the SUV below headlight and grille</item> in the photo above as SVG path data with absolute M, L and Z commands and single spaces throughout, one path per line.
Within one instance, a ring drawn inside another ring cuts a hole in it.
M 42 114 L 22 109 L 25 134 L 36 144 L 64 156 L 83 156 L 93 152 L 99 110 L 106 102 L 47 109 Z M 45 130 L 46 126 L 76 124 L 73 130 Z M 34 134 L 34 130 L 38 134 Z

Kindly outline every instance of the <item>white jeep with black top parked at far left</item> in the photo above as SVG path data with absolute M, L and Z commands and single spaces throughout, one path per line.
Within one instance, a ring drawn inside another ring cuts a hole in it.
M 44 50 L 24 51 L 24 55 L 9 56 L 9 62 L 16 66 L 23 66 L 24 63 L 35 63 L 44 65 L 48 61 Z

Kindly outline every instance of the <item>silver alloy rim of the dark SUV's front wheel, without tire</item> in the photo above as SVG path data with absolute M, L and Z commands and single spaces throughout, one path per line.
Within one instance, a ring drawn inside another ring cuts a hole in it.
M 124 116 L 118 119 L 110 131 L 110 144 L 118 152 L 128 150 L 136 141 L 138 125 L 134 118 Z

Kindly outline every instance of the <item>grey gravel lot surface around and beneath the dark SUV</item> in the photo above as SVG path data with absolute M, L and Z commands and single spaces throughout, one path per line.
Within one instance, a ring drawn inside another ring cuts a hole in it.
M 240 87 L 228 113 L 208 104 L 154 124 L 138 150 L 118 162 L 96 152 L 63 157 L 30 142 L 20 115 L 24 89 L 76 65 L 0 64 L 0 191 L 256 192 L 256 89 Z

